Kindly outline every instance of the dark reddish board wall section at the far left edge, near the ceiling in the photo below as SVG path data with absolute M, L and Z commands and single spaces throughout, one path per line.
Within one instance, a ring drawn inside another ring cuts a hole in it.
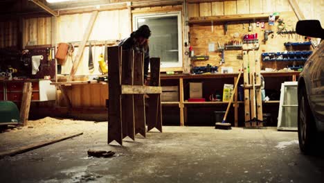
M 0 48 L 18 46 L 19 21 L 0 21 Z

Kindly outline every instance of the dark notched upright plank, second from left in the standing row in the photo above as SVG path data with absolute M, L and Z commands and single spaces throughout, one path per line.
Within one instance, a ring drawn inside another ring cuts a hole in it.
M 122 51 L 121 62 L 121 83 L 123 85 L 133 85 L 133 71 L 134 71 L 134 51 Z M 123 92 L 122 92 L 123 94 Z M 134 95 L 123 95 L 121 99 L 122 105 L 122 129 L 123 139 L 129 137 L 135 140 L 135 121 L 134 121 Z

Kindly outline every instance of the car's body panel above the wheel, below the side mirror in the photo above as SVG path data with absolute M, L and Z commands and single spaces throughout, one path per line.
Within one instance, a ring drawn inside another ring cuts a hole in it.
M 316 121 L 318 131 L 324 132 L 324 41 L 321 41 L 312 55 L 305 62 L 300 73 L 301 80 L 305 81 L 307 99 Z

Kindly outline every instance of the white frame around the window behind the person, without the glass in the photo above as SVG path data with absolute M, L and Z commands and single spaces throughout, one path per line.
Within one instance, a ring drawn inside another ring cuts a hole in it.
M 154 18 L 154 17 L 174 17 L 177 16 L 178 24 L 178 62 L 163 62 L 161 60 L 161 68 L 183 67 L 183 48 L 182 48 L 182 13 L 181 11 L 172 12 L 156 12 L 156 13 L 141 13 L 133 15 L 133 29 L 138 28 L 138 19 Z

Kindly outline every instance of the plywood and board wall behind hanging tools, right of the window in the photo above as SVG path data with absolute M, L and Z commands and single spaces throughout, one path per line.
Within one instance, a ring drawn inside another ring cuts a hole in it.
M 303 0 L 305 1 L 305 0 Z M 308 0 L 310 1 L 310 0 Z M 323 0 L 322 0 L 323 2 Z M 323 4 L 323 3 L 322 3 Z M 319 6 L 323 7 L 323 5 Z M 305 9 L 305 7 L 303 7 Z M 307 9 L 307 8 L 306 8 Z M 320 10 L 323 8 L 319 8 Z M 289 11 L 289 12 L 287 12 Z M 237 0 L 237 1 L 215 1 L 206 3 L 189 3 L 188 4 L 188 17 L 206 17 L 206 16 L 217 16 L 217 15 L 237 15 L 237 14 L 249 14 L 249 13 L 262 13 L 262 12 L 285 12 L 280 15 L 280 18 L 284 19 L 287 30 L 295 29 L 296 22 L 298 21 L 294 12 L 292 12 L 291 6 L 288 0 L 267 0 L 267 1 L 253 1 L 253 0 Z M 277 35 L 277 21 L 275 26 L 269 26 L 267 19 L 256 19 L 251 20 L 251 24 L 256 21 L 264 21 L 264 30 L 273 30 L 274 37 L 269 37 L 267 44 L 264 44 L 264 31 L 261 28 L 255 28 L 249 32 L 248 26 L 250 21 L 229 21 L 228 32 L 224 33 L 224 22 L 214 22 L 213 26 L 211 23 L 204 24 L 190 24 L 190 45 L 195 51 L 195 55 L 209 55 L 210 59 L 207 61 L 192 61 L 193 66 L 206 66 L 206 64 L 212 64 L 219 66 L 221 53 L 218 51 L 208 52 L 208 43 L 214 42 L 217 47 L 217 42 L 224 45 L 230 40 L 242 41 L 244 34 L 258 33 L 260 41 L 260 49 L 255 51 L 255 55 L 260 58 L 262 52 L 278 52 L 285 51 L 285 42 L 303 42 L 303 37 L 296 35 L 294 38 L 289 38 L 288 35 L 282 37 Z M 242 24 L 244 23 L 244 26 Z M 245 27 L 245 29 L 243 28 Z M 234 38 L 235 33 L 239 34 L 239 38 Z M 225 64 L 221 67 L 233 67 L 233 71 L 237 71 L 240 67 L 242 60 L 237 60 L 237 55 L 240 55 L 242 51 L 225 51 L 224 58 Z M 271 67 L 282 69 L 287 66 L 287 62 L 262 62 L 262 68 Z M 303 64 L 303 63 L 296 63 Z M 220 71 L 220 69 L 219 69 Z

